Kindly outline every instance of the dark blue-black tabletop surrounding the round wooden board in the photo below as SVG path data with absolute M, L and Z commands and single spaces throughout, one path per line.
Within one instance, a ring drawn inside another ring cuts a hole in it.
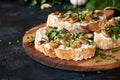
M 74 72 L 50 68 L 29 58 L 22 37 L 28 29 L 45 23 L 47 15 L 60 10 L 55 6 L 44 11 L 19 2 L 0 2 L 0 80 L 119 80 L 120 69 L 97 72 Z

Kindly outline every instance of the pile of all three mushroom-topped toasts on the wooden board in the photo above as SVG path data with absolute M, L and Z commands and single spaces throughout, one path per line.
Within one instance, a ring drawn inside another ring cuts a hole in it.
M 54 12 L 45 27 L 36 31 L 35 48 L 51 58 L 84 60 L 95 56 L 96 48 L 120 47 L 120 17 L 114 10 Z

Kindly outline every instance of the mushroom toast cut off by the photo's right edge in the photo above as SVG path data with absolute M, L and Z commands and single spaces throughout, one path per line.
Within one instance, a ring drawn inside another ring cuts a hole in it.
M 120 17 L 113 17 L 100 27 L 100 33 L 94 32 L 97 47 L 104 50 L 120 47 Z

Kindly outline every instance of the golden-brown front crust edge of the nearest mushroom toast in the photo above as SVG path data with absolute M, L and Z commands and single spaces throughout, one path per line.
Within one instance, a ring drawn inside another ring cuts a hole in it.
M 46 56 L 49 56 L 51 58 L 58 57 L 64 60 L 78 61 L 83 59 L 89 59 L 95 55 L 95 46 L 76 49 L 60 49 L 60 48 L 52 49 L 45 47 L 44 44 L 42 45 L 36 44 L 35 48 Z

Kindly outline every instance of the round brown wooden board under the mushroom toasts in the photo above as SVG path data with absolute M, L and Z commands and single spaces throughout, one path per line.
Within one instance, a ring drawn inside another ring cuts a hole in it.
M 101 59 L 97 56 L 82 61 L 61 60 L 59 58 L 50 58 L 45 56 L 42 52 L 39 52 L 34 48 L 34 44 L 32 45 L 29 44 L 30 38 L 28 38 L 30 36 L 35 36 L 36 30 L 44 26 L 45 24 L 41 24 L 31 28 L 25 33 L 23 37 L 23 47 L 26 53 L 28 54 L 28 56 L 30 56 L 37 62 L 53 68 L 71 71 L 97 71 L 115 69 L 120 67 L 120 61 L 116 61 L 114 59 L 111 60 Z M 108 52 L 111 53 L 111 51 L 107 51 L 107 53 Z M 115 56 L 117 59 L 120 59 L 120 51 L 111 54 Z M 101 62 L 94 63 L 96 60 L 101 60 Z

